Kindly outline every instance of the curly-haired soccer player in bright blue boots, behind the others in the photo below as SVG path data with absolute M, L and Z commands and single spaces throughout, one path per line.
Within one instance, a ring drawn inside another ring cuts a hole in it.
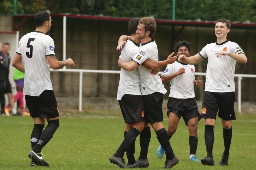
M 185 55 L 189 57 L 191 51 L 188 41 L 180 41 L 175 45 L 177 56 Z M 195 100 L 194 86 L 202 86 L 202 80 L 195 80 L 195 66 L 176 61 L 166 66 L 164 73 L 161 75 L 162 82 L 170 81 L 171 90 L 167 103 L 167 116 L 169 118 L 167 133 L 169 139 L 175 133 L 181 116 L 189 130 L 189 160 L 200 162 L 196 157 L 197 149 L 197 122 L 201 115 Z M 158 158 L 162 158 L 164 149 L 161 144 L 157 150 Z

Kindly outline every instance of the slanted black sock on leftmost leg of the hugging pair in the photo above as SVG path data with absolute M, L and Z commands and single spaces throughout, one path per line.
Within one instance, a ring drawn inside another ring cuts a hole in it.
M 124 152 L 128 150 L 128 148 L 131 146 L 133 142 L 135 142 L 136 137 L 140 134 L 140 131 L 137 130 L 136 128 L 131 128 L 125 135 L 124 140 L 122 144 L 119 146 L 117 149 L 116 153 L 114 156 L 118 158 L 123 158 L 124 157 Z

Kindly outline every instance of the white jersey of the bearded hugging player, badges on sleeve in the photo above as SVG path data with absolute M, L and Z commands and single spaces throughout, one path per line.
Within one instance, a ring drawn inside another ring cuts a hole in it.
M 139 52 L 134 55 L 132 61 L 140 65 L 147 59 L 158 60 L 158 50 L 156 42 L 153 39 L 145 44 L 141 44 Z M 146 67 L 139 66 L 141 95 L 144 96 L 154 92 L 165 94 L 167 91 L 164 88 L 161 78 L 158 74 L 153 76 L 150 74 L 150 71 Z

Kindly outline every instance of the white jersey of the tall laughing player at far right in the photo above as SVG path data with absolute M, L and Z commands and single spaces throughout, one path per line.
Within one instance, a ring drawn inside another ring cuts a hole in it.
M 207 44 L 199 55 L 208 57 L 205 91 L 208 92 L 235 92 L 235 67 L 236 60 L 228 55 L 217 58 L 216 53 L 227 51 L 235 54 L 243 53 L 243 50 L 235 42 L 225 41 L 221 44 Z

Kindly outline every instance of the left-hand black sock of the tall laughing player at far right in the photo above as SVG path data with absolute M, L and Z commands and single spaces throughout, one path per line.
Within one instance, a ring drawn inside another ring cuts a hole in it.
M 205 129 L 204 129 L 204 140 L 205 140 L 207 156 L 210 156 L 211 158 L 212 158 L 212 148 L 213 148 L 213 142 L 214 142 L 213 128 L 214 126 L 212 125 L 205 125 Z

